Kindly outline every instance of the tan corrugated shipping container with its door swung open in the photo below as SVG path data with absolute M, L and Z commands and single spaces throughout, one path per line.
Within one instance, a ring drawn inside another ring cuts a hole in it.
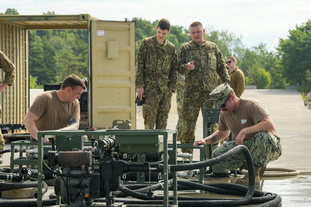
M 87 31 L 88 87 L 81 110 L 87 113 L 84 124 L 105 129 L 112 127 L 114 120 L 129 119 L 136 129 L 135 22 L 104 21 L 89 14 L 0 15 L 0 50 L 16 66 L 14 85 L 0 93 L 1 124 L 23 124 L 30 105 L 29 30 L 47 29 Z

